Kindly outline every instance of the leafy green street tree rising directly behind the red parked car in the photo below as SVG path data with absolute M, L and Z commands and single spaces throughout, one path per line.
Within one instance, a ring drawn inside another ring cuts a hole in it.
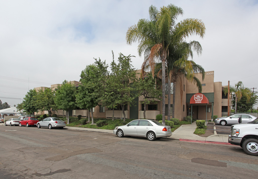
M 33 114 L 35 117 L 35 112 L 38 112 L 38 106 L 37 106 L 37 92 L 35 89 L 30 89 L 29 92 L 25 95 L 23 98 L 23 110 L 27 112 L 28 114 Z

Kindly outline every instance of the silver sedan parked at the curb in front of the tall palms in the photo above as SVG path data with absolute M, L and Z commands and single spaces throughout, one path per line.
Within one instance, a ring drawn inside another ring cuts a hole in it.
M 125 126 L 117 126 L 113 133 L 118 137 L 147 137 L 150 141 L 172 135 L 170 126 L 162 125 L 154 120 L 133 120 Z

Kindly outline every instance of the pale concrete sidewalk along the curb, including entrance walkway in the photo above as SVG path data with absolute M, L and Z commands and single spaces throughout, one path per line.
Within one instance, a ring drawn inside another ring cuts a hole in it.
M 66 129 L 88 131 L 88 132 L 101 132 L 101 133 L 114 135 L 113 130 L 90 129 L 90 128 L 68 127 L 68 126 L 66 127 Z M 172 133 L 172 136 L 164 137 L 163 139 L 231 145 L 228 143 L 228 135 L 212 135 L 209 137 L 200 137 L 193 133 L 195 129 L 196 129 L 196 122 L 194 121 L 192 124 L 180 126 Z

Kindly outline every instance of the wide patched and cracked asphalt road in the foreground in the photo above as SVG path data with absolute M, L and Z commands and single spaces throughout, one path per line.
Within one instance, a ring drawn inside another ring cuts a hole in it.
M 257 178 L 239 146 L 0 126 L 0 179 Z

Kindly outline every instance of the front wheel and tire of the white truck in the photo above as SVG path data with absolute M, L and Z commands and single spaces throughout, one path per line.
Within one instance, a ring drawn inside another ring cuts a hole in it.
M 243 150 L 248 155 L 258 156 L 258 140 L 249 138 L 243 142 Z

